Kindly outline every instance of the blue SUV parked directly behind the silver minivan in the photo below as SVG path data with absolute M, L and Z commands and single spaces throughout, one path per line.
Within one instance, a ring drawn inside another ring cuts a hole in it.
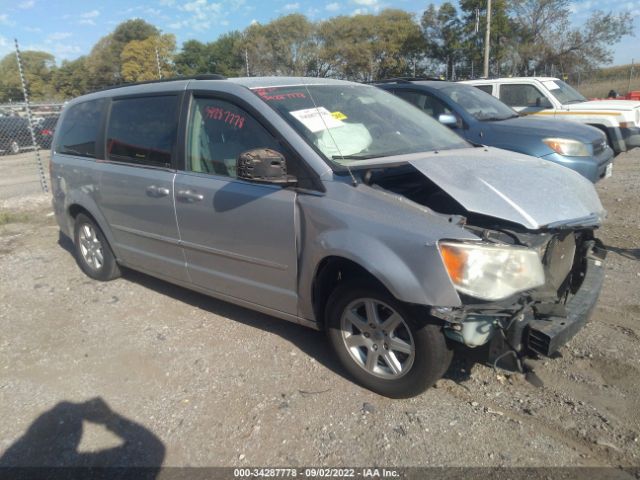
M 500 100 L 460 83 L 391 80 L 378 86 L 409 101 L 471 143 L 549 160 L 594 183 L 612 173 L 613 150 L 597 128 L 521 117 Z

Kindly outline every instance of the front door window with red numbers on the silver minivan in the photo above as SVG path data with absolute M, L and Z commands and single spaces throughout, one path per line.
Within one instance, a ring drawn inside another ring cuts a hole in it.
M 187 137 L 187 168 L 236 176 L 238 155 L 254 148 L 284 153 L 279 142 L 245 110 L 212 98 L 195 98 Z

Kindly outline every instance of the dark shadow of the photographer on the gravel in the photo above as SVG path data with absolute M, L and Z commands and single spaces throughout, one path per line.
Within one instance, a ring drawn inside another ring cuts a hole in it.
M 95 452 L 80 452 L 83 423 L 104 426 L 121 444 Z M 137 478 L 155 478 L 165 456 L 162 441 L 142 425 L 114 412 L 101 398 L 83 403 L 60 402 L 40 415 L 0 457 L 0 471 L 25 467 L 112 469 L 144 467 Z

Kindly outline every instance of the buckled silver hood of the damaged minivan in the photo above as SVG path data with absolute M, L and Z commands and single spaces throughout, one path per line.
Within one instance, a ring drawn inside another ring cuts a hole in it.
M 411 154 L 405 160 L 469 212 L 531 230 L 596 226 L 605 215 L 591 182 L 527 155 L 475 148 Z

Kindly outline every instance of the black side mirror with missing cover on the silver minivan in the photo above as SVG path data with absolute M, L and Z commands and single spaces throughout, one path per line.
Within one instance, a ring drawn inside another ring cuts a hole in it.
M 294 176 L 287 175 L 287 162 L 282 154 L 270 148 L 255 148 L 241 153 L 236 160 L 236 175 L 248 182 L 283 187 L 298 182 Z

